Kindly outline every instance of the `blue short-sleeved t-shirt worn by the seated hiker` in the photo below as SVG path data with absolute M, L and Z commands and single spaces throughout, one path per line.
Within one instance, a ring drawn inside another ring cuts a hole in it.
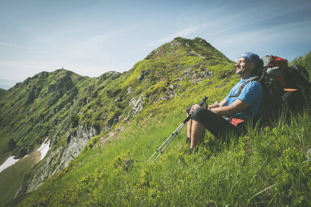
M 257 117 L 258 110 L 260 107 L 261 100 L 263 99 L 263 86 L 257 81 L 249 81 L 246 86 L 243 88 L 242 92 L 238 96 L 238 90 L 240 86 L 242 86 L 245 81 L 247 81 L 249 77 L 246 79 L 240 80 L 236 83 L 229 95 L 225 98 L 228 101 L 227 106 L 230 106 L 236 99 L 240 99 L 241 101 L 245 101 L 249 105 L 249 110 L 254 117 Z M 233 97 L 232 97 L 233 96 Z M 237 97 L 238 96 L 238 97 Z M 247 118 L 247 109 L 242 110 L 242 112 L 238 112 L 236 115 L 231 116 L 233 118 Z

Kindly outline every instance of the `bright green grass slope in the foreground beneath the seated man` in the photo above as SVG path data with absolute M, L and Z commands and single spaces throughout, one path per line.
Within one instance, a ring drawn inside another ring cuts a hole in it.
M 184 112 L 125 124 L 118 139 L 99 137 L 21 206 L 308 206 L 311 125 L 308 114 L 276 128 L 249 130 L 223 144 L 206 134 L 188 156 L 186 128 L 154 164 L 145 161 Z M 37 203 L 38 202 L 38 203 Z

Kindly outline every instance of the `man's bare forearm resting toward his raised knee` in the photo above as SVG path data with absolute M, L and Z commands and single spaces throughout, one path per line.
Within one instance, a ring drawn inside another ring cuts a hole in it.
M 221 104 L 224 101 L 216 104 Z M 245 101 L 241 101 L 240 99 L 236 99 L 236 101 L 234 101 L 230 106 L 220 106 L 215 108 L 211 106 L 209 106 L 208 109 L 210 109 L 212 112 L 215 112 L 216 114 L 221 116 L 229 117 L 235 115 L 238 112 L 241 112 L 242 110 L 245 110 L 247 107 L 249 107 L 249 104 L 247 104 Z

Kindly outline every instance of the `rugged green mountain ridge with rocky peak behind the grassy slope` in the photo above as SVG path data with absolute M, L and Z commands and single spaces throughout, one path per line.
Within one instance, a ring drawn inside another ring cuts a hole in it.
M 90 78 L 62 68 L 39 72 L 0 92 L 0 163 L 8 155 L 29 155 L 47 137 L 51 141 L 48 155 L 27 172 L 19 193 L 35 190 L 66 168 L 92 137 L 140 119 L 150 113 L 148 108 L 156 112 L 163 101 L 180 97 L 192 80 L 233 67 L 233 61 L 199 38 L 177 37 L 156 50 L 123 73 Z M 10 141 L 15 144 L 9 148 Z

